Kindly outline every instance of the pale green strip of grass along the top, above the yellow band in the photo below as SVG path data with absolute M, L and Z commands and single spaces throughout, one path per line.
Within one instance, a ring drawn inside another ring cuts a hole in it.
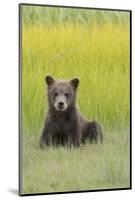
M 23 6 L 23 22 L 31 25 L 55 25 L 61 23 L 80 23 L 84 25 L 112 23 L 125 25 L 129 23 L 129 12 L 107 11 L 79 8 Z

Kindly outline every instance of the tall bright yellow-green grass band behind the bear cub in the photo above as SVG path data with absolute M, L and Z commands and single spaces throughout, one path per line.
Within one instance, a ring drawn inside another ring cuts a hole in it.
M 23 27 L 23 127 L 39 134 L 47 110 L 44 77 L 80 77 L 78 104 L 106 128 L 129 126 L 129 27 Z

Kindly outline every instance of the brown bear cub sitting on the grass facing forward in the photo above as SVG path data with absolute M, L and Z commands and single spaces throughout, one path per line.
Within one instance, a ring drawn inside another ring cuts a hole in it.
M 85 119 L 76 107 L 79 79 L 55 80 L 47 75 L 49 109 L 40 137 L 44 145 L 79 147 L 86 140 L 102 143 L 103 132 L 99 123 Z

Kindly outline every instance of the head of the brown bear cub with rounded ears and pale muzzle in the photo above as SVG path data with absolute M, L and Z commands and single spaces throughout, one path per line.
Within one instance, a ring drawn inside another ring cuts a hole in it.
M 49 105 L 56 111 L 64 112 L 75 105 L 75 97 L 79 79 L 55 80 L 52 76 L 45 77 L 48 86 Z

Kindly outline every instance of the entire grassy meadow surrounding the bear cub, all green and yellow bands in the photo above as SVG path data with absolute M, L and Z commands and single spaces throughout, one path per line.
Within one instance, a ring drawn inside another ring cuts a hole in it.
M 22 193 L 129 187 L 129 13 L 35 11 L 22 18 Z M 46 74 L 80 77 L 77 104 L 102 124 L 103 145 L 39 149 Z

